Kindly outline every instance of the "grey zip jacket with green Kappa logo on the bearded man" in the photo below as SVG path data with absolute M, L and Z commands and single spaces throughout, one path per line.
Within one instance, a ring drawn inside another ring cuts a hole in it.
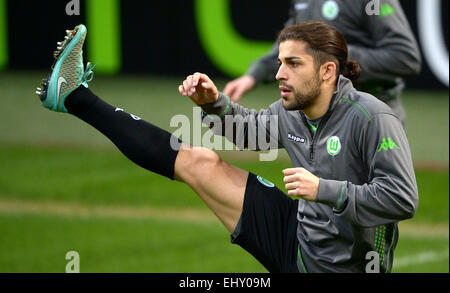
M 369 252 L 378 254 L 381 272 L 391 271 L 397 223 L 414 216 L 418 191 L 408 140 L 390 107 L 340 76 L 315 132 L 301 111 L 286 111 L 281 100 L 256 111 L 220 93 L 202 109 L 216 134 L 235 143 L 243 139 L 238 144 L 253 150 L 261 149 L 258 136 L 270 137 L 294 167 L 320 178 L 317 202 L 298 204 L 301 271 L 365 272 Z M 220 128 L 212 125 L 217 117 Z M 236 126 L 225 123 L 226 117 L 242 119 Z M 227 131 L 230 127 L 236 131 Z

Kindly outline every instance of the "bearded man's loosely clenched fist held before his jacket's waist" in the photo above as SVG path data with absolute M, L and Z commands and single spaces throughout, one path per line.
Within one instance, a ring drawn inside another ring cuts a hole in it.
M 319 192 L 319 177 L 305 168 L 289 168 L 283 170 L 285 187 L 288 195 L 300 197 L 307 201 L 315 201 Z

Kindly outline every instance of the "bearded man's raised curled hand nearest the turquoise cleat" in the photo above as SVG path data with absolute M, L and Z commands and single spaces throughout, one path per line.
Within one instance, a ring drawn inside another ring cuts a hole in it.
M 198 106 L 214 103 L 219 98 L 219 91 L 212 80 L 206 74 L 198 72 L 186 77 L 178 91 L 191 98 Z

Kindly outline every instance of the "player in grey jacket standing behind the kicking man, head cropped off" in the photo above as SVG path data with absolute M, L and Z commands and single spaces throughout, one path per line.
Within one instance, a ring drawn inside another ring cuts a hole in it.
M 398 0 L 292 0 L 289 14 L 286 26 L 316 20 L 336 27 L 349 44 L 349 58 L 362 68 L 356 88 L 388 104 L 406 127 L 402 77 L 420 73 L 422 61 Z M 244 76 L 227 83 L 224 93 L 238 102 L 256 85 L 274 81 L 277 57 L 275 42 Z

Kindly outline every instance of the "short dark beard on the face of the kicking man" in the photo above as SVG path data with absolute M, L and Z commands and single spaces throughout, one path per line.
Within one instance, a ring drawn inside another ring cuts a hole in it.
M 312 79 L 304 82 L 299 88 L 293 88 L 283 83 L 280 84 L 292 90 L 292 94 L 294 95 L 293 101 L 283 100 L 283 107 L 287 111 L 307 109 L 316 102 L 321 94 L 319 73 Z

